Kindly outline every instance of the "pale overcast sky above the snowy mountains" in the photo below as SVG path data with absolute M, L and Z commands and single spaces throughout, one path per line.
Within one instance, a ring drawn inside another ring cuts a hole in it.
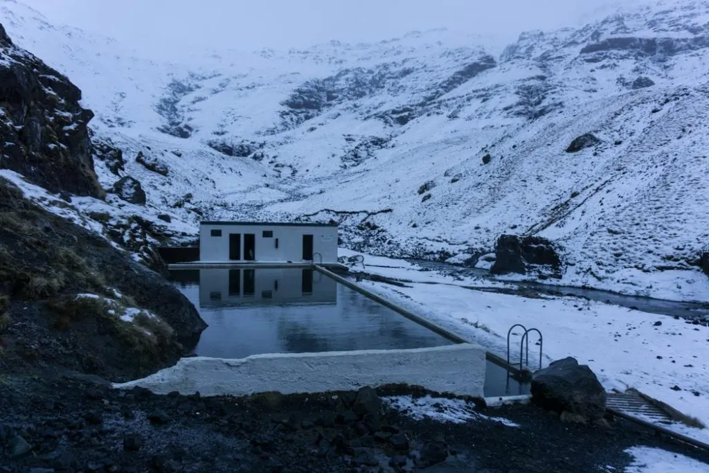
M 589 9 L 635 0 L 24 0 L 52 22 L 112 36 L 131 48 L 301 48 L 411 30 L 496 35 L 575 26 Z

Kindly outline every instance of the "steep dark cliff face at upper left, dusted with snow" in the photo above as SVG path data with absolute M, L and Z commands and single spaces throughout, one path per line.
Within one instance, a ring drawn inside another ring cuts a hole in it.
M 102 197 L 82 91 L 18 48 L 0 25 L 0 169 L 52 192 Z

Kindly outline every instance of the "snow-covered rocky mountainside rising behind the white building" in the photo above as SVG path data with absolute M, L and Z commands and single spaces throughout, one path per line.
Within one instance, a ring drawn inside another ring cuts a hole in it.
M 500 235 L 537 235 L 559 245 L 561 284 L 709 297 L 704 1 L 504 50 L 433 30 L 179 63 L 19 0 L 0 0 L 0 22 L 82 89 L 94 143 L 123 152 L 118 166 L 97 155 L 101 184 L 128 174 L 147 194 L 147 208 L 115 194 L 94 208 L 167 213 L 186 233 L 203 218 L 334 219 L 352 249 L 481 267 Z

